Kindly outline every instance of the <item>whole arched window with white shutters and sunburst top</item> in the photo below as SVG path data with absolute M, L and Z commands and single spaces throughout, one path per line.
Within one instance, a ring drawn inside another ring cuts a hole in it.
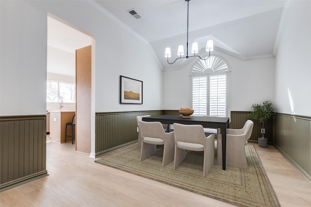
M 228 66 L 218 56 L 196 62 L 191 71 L 193 115 L 228 117 Z

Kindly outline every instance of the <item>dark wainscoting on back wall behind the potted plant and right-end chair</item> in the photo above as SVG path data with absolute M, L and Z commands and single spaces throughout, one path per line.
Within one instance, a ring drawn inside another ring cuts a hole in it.
M 245 124 L 245 122 L 248 120 L 246 117 L 246 114 L 249 113 L 249 111 L 231 111 L 231 123 L 230 128 L 242 128 Z M 258 142 L 258 138 L 262 137 L 261 131 L 262 124 L 260 124 L 258 121 L 254 121 L 254 127 L 252 131 L 252 135 L 250 140 L 254 142 Z M 266 123 L 264 124 L 265 128 L 265 134 L 264 137 L 268 138 L 268 143 L 273 143 L 273 118 L 268 119 Z

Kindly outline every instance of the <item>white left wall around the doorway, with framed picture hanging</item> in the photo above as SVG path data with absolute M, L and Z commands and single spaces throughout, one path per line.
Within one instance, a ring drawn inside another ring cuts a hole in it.
M 93 35 L 95 110 L 159 110 L 162 71 L 149 46 L 86 1 L 0 1 L 0 115 L 46 113 L 47 15 Z M 119 103 L 120 75 L 143 81 L 143 104 Z

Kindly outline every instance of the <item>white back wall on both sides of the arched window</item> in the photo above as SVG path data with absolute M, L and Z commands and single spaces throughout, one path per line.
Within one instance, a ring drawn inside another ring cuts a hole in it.
M 214 50 L 227 61 L 230 76 L 229 90 L 231 93 L 230 111 L 251 111 L 254 103 L 274 100 L 274 58 L 242 61 L 221 51 Z M 197 61 L 189 63 L 181 69 L 165 70 L 163 106 L 166 110 L 178 110 L 191 106 L 190 71 Z

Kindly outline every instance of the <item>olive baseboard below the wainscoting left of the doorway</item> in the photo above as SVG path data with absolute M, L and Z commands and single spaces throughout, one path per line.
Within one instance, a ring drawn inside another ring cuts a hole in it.
M 0 185 L 0 192 L 6 191 L 8 189 L 11 189 L 11 188 L 14 188 L 16 186 L 22 185 L 24 183 L 28 183 L 30 181 L 39 179 L 39 178 L 47 176 L 47 175 L 49 175 L 48 171 L 44 170 L 44 171 L 41 171 L 41 172 L 38 172 L 38 173 L 35 173 L 35 174 L 32 174 L 32 175 L 28 175 L 28 176 L 25 176 L 25 177 L 18 178 L 16 180 L 12 180 L 12 181 L 7 182 L 7 183 L 3 183 L 3 184 Z

